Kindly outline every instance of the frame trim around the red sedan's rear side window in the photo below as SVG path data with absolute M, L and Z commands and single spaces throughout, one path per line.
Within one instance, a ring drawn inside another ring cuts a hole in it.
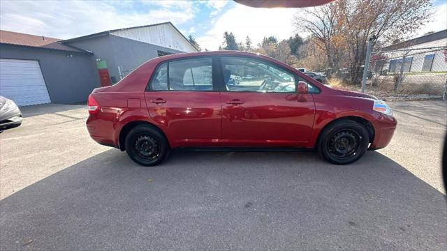
M 189 60 L 189 59 L 203 59 L 203 58 L 211 59 L 212 90 L 170 90 L 169 89 L 169 87 L 170 87 L 169 86 L 169 65 L 170 65 L 170 62 L 183 61 L 183 60 Z M 216 77 L 217 77 L 216 75 L 217 75 L 217 73 L 215 73 L 215 70 L 214 70 L 214 68 L 215 68 L 214 67 L 214 65 L 215 65 L 214 61 L 216 61 L 216 60 L 217 60 L 216 56 L 200 55 L 200 56 L 185 56 L 185 57 L 182 57 L 182 58 L 168 59 L 168 60 L 161 61 L 161 62 L 159 62 L 155 66 L 154 71 L 152 72 L 151 77 L 149 77 L 149 81 L 147 82 L 145 92 L 159 92 L 159 91 L 170 91 L 170 92 L 174 92 L 174 91 L 182 91 L 182 92 L 191 92 L 191 91 L 192 92 L 219 92 L 219 89 L 217 88 L 217 84 L 216 84 Z M 153 90 L 152 86 L 151 86 L 152 80 L 155 78 L 155 73 L 157 72 L 157 70 L 159 70 L 159 68 L 163 65 L 163 63 L 166 63 L 166 70 L 167 70 L 166 77 L 167 77 L 167 82 L 168 82 L 168 89 L 167 90 Z

